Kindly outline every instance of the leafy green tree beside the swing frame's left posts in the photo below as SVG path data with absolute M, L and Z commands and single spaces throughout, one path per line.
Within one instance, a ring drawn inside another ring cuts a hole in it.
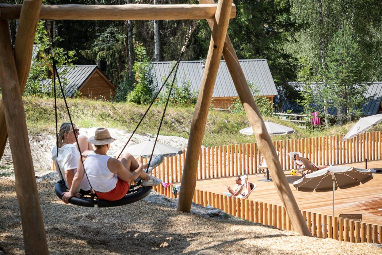
M 57 36 L 54 38 L 53 42 L 60 41 L 61 39 Z M 36 34 L 34 37 L 34 44 L 37 46 L 32 54 L 32 64 L 29 70 L 28 80 L 24 89 L 24 95 L 52 95 L 52 85 L 42 86 L 42 80 L 48 79 L 48 72 L 52 73 L 53 59 L 50 55 L 50 49 L 52 42 L 47 34 L 44 27 L 44 21 L 39 21 L 37 25 Z M 67 85 L 68 81 L 63 78 L 65 74 L 68 73 L 70 68 L 73 68 L 73 61 L 76 60 L 75 51 L 66 52 L 63 48 L 53 47 L 54 58 L 56 62 L 57 69 L 66 66 L 68 68 L 61 69 L 60 78 L 63 87 Z M 58 87 L 59 89 L 59 87 Z

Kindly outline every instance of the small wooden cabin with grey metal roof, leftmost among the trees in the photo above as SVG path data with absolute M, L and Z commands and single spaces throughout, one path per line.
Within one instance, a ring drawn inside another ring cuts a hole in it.
M 79 92 L 80 96 L 83 97 L 110 100 L 110 97 L 115 95 L 114 85 L 97 65 L 77 65 L 74 68 L 60 67 L 58 73 L 61 81 L 66 83 L 64 88 L 67 97 L 73 97 Z M 56 80 L 56 82 L 58 81 Z M 50 90 L 52 80 L 43 80 L 41 85 Z

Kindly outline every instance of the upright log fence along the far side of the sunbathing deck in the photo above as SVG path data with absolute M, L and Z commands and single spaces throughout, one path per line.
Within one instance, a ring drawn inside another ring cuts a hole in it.
M 382 132 L 366 132 L 342 141 L 343 135 L 274 141 L 283 170 L 296 168 L 289 152 L 301 152 L 317 165 L 338 165 L 382 159 Z M 186 151 L 164 159 L 153 175 L 165 182 L 180 182 Z M 256 173 L 262 155 L 256 143 L 203 147 L 199 155 L 197 180 Z

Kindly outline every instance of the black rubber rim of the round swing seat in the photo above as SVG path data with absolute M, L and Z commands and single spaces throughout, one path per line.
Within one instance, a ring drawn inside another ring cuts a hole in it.
M 136 201 L 139 201 L 146 196 L 148 196 L 151 192 L 152 187 L 139 187 L 138 190 L 134 193 L 127 194 L 120 200 L 116 201 L 108 201 L 108 200 L 102 200 L 98 199 L 97 202 L 94 201 L 92 198 L 77 198 L 77 197 L 71 197 L 69 199 L 70 204 L 74 204 L 77 206 L 84 206 L 84 207 L 94 207 L 97 205 L 99 208 L 102 207 L 114 207 L 114 206 L 122 206 L 125 204 L 131 204 Z M 55 185 L 55 191 L 58 198 L 62 199 L 62 193 L 68 191 L 63 181 L 59 180 L 57 181 Z

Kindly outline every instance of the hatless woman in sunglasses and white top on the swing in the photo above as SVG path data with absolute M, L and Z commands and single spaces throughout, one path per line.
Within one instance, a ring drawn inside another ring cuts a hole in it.
M 79 129 L 74 125 L 74 130 L 71 123 L 62 123 L 60 126 L 60 131 L 58 132 L 58 155 L 57 146 L 53 147 L 52 150 L 52 160 L 55 163 L 56 171 L 61 179 L 65 181 L 65 185 L 68 189 L 71 188 L 73 177 L 77 172 L 77 164 L 79 158 L 79 148 L 81 152 L 85 150 L 94 150 L 93 146 L 87 141 L 86 136 L 79 135 Z M 76 142 L 76 137 L 78 144 Z M 61 175 L 60 172 L 61 171 Z M 77 192 L 81 193 L 90 190 L 89 182 L 86 178 L 79 185 Z

